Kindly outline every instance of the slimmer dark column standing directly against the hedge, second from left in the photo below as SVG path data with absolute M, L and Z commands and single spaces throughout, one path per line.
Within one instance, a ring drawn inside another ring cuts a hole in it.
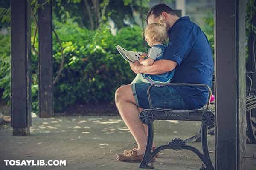
M 45 0 L 38 0 L 44 3 Z M 39 32 L 39 115 L 53 116 L 52 87 L 52 2 L 38 9 Z

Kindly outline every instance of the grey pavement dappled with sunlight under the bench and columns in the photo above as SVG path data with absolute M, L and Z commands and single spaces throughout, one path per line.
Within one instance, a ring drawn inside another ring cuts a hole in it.
M 198 132 L 201 122 L 155 121 L 154 142 L 168 144 L 171 139 L 186 139 Z M 12 129 L 0 130 L 0 170 L 135 170 L 139 163 L 116 160 L 116 153 L 131 149 L 134 139 L 119 116 L 74 116 L 33 118 L 30 136 L 12 136 Z M 214 136 L 208 136 L 214 162 Z M 200 148 L 201 142 L 189 143 Z M 246 156 L 256 152 L 247 144 Z M 4 166 L 4 159 L 66 160 L 66 167 Z M 247 158 L 247 170 L 256 170 L 256 159 Z M 156 170 L 199 170 L 201 161 L 186 150 L 164 150 L 154 163 Z

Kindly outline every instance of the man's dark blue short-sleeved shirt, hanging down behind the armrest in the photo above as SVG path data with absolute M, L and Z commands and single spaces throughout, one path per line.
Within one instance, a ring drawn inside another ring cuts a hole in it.
M 209 41 L 189 17 L 180 17 L 168 31 L 169 43 L 163 59 L 177 62 L 172 83 L 212 85 L 213 57 Z M 200 108 L 207 102 L 206 88 L 181 87 L 179 93 L 187 109 Z

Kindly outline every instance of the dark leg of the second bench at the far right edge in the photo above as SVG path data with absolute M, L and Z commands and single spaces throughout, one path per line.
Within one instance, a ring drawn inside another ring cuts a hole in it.
M 256 144 L 256 122 L 252 119 L 252 110 L 246 112 L 246 123 L 246 135 L 250 140 L 249 143 Z

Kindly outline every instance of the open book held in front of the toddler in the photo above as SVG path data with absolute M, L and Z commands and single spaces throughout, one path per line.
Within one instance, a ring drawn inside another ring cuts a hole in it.
M 122 48 L 120 45 L 117 45 L 116 49 L 119 51 L 122 57 L 128 62 L 135 62 L 136 60 L 139 60 L 140 56 L 144 53 L 144 52 L 128 51 L 125 48 Z

